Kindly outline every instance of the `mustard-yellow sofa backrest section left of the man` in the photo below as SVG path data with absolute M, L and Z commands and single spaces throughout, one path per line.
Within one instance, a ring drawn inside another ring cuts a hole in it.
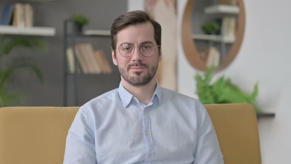
M 0 164 L 62 164 L 78 107 L 0 108 Z

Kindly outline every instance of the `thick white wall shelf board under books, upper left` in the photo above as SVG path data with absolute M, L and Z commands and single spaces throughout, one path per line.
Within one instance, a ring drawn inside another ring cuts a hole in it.
M 16 27 L 0 25 L 0 34 L 29 35 L 29 36 L 54 36 L 55 28 L 52 27 Z

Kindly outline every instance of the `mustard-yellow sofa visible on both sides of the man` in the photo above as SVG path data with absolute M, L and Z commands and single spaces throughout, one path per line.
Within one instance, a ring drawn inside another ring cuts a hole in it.
M 255 109 L 205 105 L 225 164 L 261 164 Z M 79 107 L 0 108 L 0 164 L 62 164 L 68 130 Z

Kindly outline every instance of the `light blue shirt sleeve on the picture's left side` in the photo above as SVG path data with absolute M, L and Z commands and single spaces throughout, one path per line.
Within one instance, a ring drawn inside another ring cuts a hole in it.
M 84 107 L 77 112 L 69 129 L 64 164 L 97 164 L 94 125 Z

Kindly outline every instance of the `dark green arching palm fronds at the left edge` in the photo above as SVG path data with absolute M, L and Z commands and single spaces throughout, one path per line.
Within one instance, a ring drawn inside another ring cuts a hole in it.
M 16 47 L 40 48 L 46 50 L 42 41 L 35 39 L 5 38 L 0 36 L 0 107 L 16 105 L 21 101 L 21 96 L 8 90 L 8 82 L 19 69 L 30 70 L 43 82 L 41 71 L 33 58 L 25 54 L 10 55 Z

